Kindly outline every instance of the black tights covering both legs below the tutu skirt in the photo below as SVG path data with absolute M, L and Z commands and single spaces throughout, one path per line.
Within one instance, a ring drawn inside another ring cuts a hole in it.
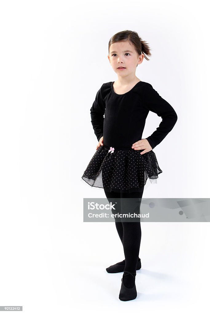
M 121 204 L 118 203 L 117 213 L 121 213 L 123 207 L 133 207 L 133 200 L 128 198 L 142 198 L 144 187 L 142 187 L 142 192 L 131 192 L 131 193 L 120 193 L 120 192 L 107 192 L 105 195 L 109 203 L 114 202 L 114 198 L 121 198 Z M 123 202 L 122 198 L 127 198 L 126 202 Z M 119 199 L 118 199 L 119 200 Z M 135 202 L 136 204 L 136 202 Z M 141 199 L 139 199 L 138 207 L 140 209 Z M 135 209 L 135 213 L 139 213 Z M 131 211 L 133 212 L 133 211 Z M 118 218 L 117 220 L 120 220 Z M 124 254 L 125 254 L 125 270 L 129 272 L 136 272 L 136 266 L 139 258 L 139 249 L 141 243 L 141 224 L 139 222 L 125 222 L 121 219 L 120 222 L 116 222 L 115 225 L 117 232 L 119 234 L 120 240 L 122 242 Z

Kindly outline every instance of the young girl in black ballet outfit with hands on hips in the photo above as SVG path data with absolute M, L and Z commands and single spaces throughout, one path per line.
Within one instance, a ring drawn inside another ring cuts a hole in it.
M 149 178 L 151 183 L 156 183 L 162 173 L 152 150 L 173 129 L 177 114 L 150 83 L 135 75 L 136 67 L 143 59 L 149 60 L 146 55 L 151 56 L 148 44 L 137 32 L 116 33 L 111 37 L 108 49 L 108 59 L 117 80 L 102 84 L 90 109 L 91 123 L 99 143 L 82 179 L 93 187 L 103 188 L 109 202 L 111 198 L 121 198 L 118 213 L 128 208 L 125 200 L 130 201 L 129 212 L 132 212 L 136 198 L 141 201 L 146 180 Z M 160 116 L 162 121 L 152 135 L 142 139 L 149 111 Z M 115 221 L 115 225 L 125 260 L 106 271 L 123 272 L 119 299 L 133 300 L 137 296 L 136 270 L 141 268 L 141 226 L 140 222 L 124 220 Z

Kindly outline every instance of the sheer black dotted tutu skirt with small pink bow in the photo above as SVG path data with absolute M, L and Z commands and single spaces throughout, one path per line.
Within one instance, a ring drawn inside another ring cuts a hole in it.
M 142 192 L 148 178 L 154 184 L 162 173 L 155 153 L 151 150 L 140 154 L 142 151 L 131 147 L 99 146 L 82 179 L 108 192 Z

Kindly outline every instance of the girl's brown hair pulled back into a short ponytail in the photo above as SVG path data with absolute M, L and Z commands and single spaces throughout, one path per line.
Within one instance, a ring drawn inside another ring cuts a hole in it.
M 122 42 L 122 41 L 128 41 L 131 45 L 136 49 L 137 54 L 144 54 L 146 60 L 150 60 L 147 58 L 147 56 L 151 56 L 152 54 L 150 53 L 150 47 L 148 43 L 143 41 L 141 37 L 139 37 L 138 33 L 135 31 L 121 31 L 113 35 L 110 40 L 109 40 L 109 46 L 108 46 L 108 51 L 110 49 L 111 44 L 117 43 L 117 42 Z M 147 56 L 146 56 L 147 55 Z

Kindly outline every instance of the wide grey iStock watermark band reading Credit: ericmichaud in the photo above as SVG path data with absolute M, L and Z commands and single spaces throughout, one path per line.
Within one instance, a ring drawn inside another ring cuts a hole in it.
M 210 222 L 210 198 L 83 198 L 83 222 Z

